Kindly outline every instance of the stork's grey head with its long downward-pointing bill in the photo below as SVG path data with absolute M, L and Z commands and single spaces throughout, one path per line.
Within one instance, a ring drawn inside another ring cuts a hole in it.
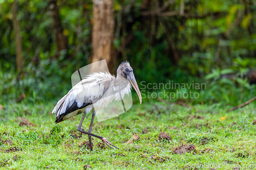
M 130 66 L 130 63 L 128 61 L 122 62 L 117 68 L 117 79 L 120 79 L 120 78 L 126 79 L 129 81 L 129 83 L 133 86 L 133 88 L 137 92 L 140 99 L 140 104 L 141 104 L 142 98 L 141 98 L 140 90 L 133 74 L 133 68 Z

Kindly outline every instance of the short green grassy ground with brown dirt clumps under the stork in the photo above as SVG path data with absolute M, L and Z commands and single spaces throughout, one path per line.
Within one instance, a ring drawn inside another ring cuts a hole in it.
M 1 169 L 83 169 L 84 165 L 93 169 L 256 167 L 256 113 L 252 104 L 232 112 L 219 104 L 193 108 L 163 103 L 134 105 L 118 117 L 96 121 L 93 127 L 93 133 L 120 149 L 104 149 L 101 141 L 93 138 L 92 152 L 84 144 L 88 137 L 76 131 L 82 115 L 55 125 L 52 109 L 51 104 L 3 106 Z M 31 124 L 20 123 L 18 117 L 25 117 Z M 83 123 L 86 130 L 90 118 L 91 113 Z M 169 134 L 172 140 L 160 141 L 160 132 Z M 123 143 L 133 133 L 140 139 Z M 195 150 L 176 154 L 182 144 L 193 144 Z

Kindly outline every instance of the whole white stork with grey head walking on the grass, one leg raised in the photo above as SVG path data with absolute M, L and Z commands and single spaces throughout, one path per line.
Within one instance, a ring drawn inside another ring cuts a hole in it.
M 77 83 L 63 98 L 61 98 L 54 107 L 52 113 L 56 113 L 55 123 L 71 118 L 84 112 L 77 130 L 89 137 L 90 149 L 92 151 L 91 136 L 102 140 L 103 145 L 117 148 L 106 138 L 92 134 L 92 126 L 95 115 L 98 111 L 108 106 L 113 100 L 122 100 L 124 94 L 131 92 L 131 85 L 137 92 L 141 104 L 141 94 L 134 77 L 133 68 L 127 61 L 122 62 L 117 69 L 117 76 L 112 76 L 106 72 L 94 72 L 85 79 Z M 89 131 L 81 129 L 82 122 L 87 113 L 93 111 Z M 113 148 L 112 148 L 113 149 Z M 118 149 L 118 148 L 117 148 Z

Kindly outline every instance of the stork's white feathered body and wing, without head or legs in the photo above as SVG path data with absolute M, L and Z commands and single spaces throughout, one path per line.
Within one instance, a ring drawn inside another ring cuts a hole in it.
M 129 64 L 129 63 L 128 63 Z M 63 120 L 73 117 L 83 111 L 95 110 L 96 114 L 113 100 L 120 101 L 125 94 L 131 92 L 131 85 L 125 78 L 115 78 L 107 72 L 95 72 L 76 84 L 54 107 L 52 113 L 56 118 L 65 113 L 75 102 L 77 107 L 92 103 L 85 108 L 77 109 L 63 117 Z

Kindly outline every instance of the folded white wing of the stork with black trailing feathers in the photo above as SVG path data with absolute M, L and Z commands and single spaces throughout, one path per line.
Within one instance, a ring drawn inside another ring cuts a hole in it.
M 56 123 L 65 115 L 96 103 L 110 86 L 111 79 L 99 79 L 94 76 L 76 84 L 54 107 Z

